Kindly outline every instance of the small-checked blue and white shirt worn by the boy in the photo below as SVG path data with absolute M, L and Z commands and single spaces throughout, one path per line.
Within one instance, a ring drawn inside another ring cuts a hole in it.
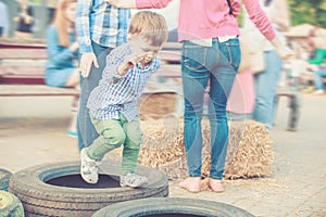
M 161 62 L 153 59 L 147 66 L 137 65 L 124 76 L 117 74 L 117 67 L 126 55 L 131 54 L 128 43 L 111 51 L 99 85 L 91 91 L 87 107 L 98 119 L 118 119 L 121 113 L 131 122 L 138 115 L 137 102 L 150 76 L 159 69 Z

